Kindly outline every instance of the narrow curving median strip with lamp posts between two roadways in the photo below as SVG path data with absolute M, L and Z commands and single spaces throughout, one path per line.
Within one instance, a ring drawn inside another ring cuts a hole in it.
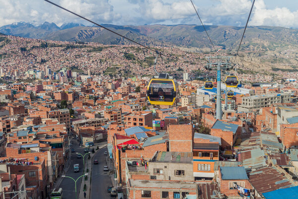
M 96 147 L 96 145 L 94 145 Z M 89 199 L 90 197 L 90 178 L 91 178 L 91 172 L 92 172 L 92 163 L 93 163 L 93 156 L 102 148 L 106 147 L 107 144 L 104 144 L 102 146 L 99 147 L 98 150 L 95 150 L 95 153 L 90 153 L 90 159 L 86 158 L 86 163 L 85 163 L 85 171 L 86 169 L 88 168 L 89 169 L 89 172 L 88 172 L 88 180 L 85 181 L 84 177 L 82 179 L 82 183 L 81 183 L 81 186 L 80 186 L 80 189 L 79 189 L 79 199 L 84 199 L 84 184 L 86 183 L 86 186 L 87 186 L 87 189 L 85 191 L 86 193 L 86 199 Z M 88 165 L 88 167 L 87 167 Z M 86 172 L 85 172 L 86 173 Z M 93 179 L 94 180 L 94 179 Z

